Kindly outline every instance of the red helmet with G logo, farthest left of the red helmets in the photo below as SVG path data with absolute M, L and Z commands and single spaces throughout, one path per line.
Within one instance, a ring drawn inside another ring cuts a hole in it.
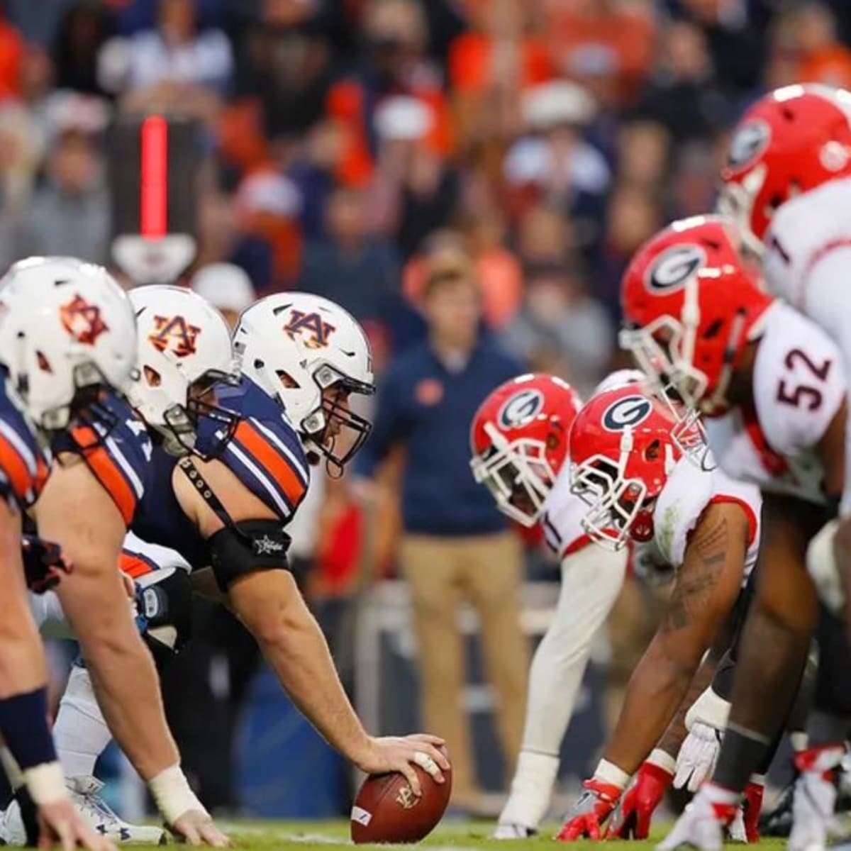
M 473 477 L 517 523 L 537 523 L 581 407 L 576 391 L 552 375 L 506 381 L 479 406 L 470 427 Z

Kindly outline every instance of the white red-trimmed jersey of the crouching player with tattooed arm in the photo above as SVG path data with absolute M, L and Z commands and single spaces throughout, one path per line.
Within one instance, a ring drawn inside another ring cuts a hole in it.
M 710 464 L 714 460 L 709 459 Z M 740 505 L 748 521 L 748 544 L 742 585 L 757 564 L 760 539 L 762 496 L 756 485 L 737 482 L 719 467 L 699 469 L 688 458 L 681 458 L 662 488 L 653 512 L 655 544 L 660 556 L 678 568 L 686 557 L 688 536 L 700 516 L 716 503 Z

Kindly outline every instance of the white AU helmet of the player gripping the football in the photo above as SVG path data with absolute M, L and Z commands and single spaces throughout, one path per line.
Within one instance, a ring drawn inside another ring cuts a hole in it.
M 348 406 L 350 393 L 375 391 L 360 324 L 318 295 L 279 293 L 243 311 L 233 340 L 243 375 L 281 403 L 308 451 L 341 470 L 372 428 Z M 323 392 L 332 387 L 333 397 Z

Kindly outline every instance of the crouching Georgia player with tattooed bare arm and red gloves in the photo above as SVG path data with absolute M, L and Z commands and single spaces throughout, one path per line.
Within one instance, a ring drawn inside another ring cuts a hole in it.
M 694 700 L 705 688 L 705 678 L 695 687 L 695 674 L 734 617 L 757 562 L 759 489 L 715 467 L 698 424 L 683 422 L 670 403 L 642 386 L 606 391 L 586 403 L 571 428 L 569 451 L 570 486 L 587 503 L 582 524 L 592 540 L 610 548 L 652 540 L 675 579 L 603 759 L 557 838 L 601 838 L 616 807 L 608 836 L 647 837 L 650 815 L 674 778 L 674 754 L 654 746 L 672 722 L 682 726 L 677 711 L 689 692 Z

